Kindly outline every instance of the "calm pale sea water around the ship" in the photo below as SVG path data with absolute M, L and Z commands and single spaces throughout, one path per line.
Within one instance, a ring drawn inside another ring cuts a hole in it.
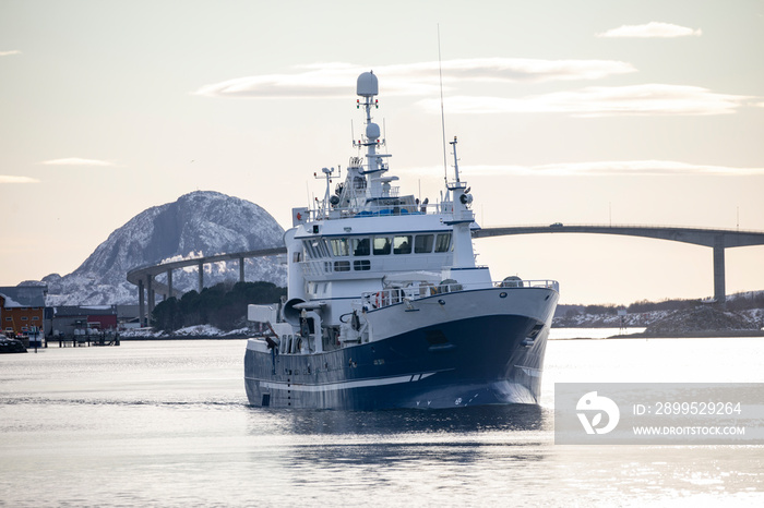
M 552 340 L 540 407 L 375 413 L 250 408 L 243 352 L 0 355 L 0 506 L 764 505 L 762 446 L 559 446 L 552 411 L 556 382 L 762 383 L 761 338 Z

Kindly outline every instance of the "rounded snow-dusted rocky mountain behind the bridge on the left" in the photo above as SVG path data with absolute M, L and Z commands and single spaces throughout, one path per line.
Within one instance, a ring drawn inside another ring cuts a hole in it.
M 48 285 L 46 303 L 134 304 L 138 289 L 126 279 L 132 268 L 168 259 L 282 246 L 283 237 L 278 222 L 254 203 L 218 192 L 192 192 L 133 217 L 73 273 L 43 278 Z M 286 286 L 286 267 L 275 258 L 247 259 L 244 269 L 248 281 Z M 238 279 L 238 262 L 205 265 L 205 286 Z M 181 291 L 198 289 L 198 280 L 196 268 L 172 274 L 172 286 Z

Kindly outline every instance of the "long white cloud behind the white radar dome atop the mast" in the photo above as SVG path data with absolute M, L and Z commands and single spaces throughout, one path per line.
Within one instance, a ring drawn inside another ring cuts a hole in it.
M 613 60 L 539 60 L 481 58 L 442 62 L 444 85 L 450 89 L 463 83 L 517 83 L 571 80 L 599 80 L 613 74 L 636 72 L 630 63 Z M 263 74 L 238 77 L 200 87 L 194 95 L 234 98 L 319 98 L 347 97 L 354 83 L 369 68 L 349 63 L 298 65 L 293 74 Z M 386 96 L 438 95 L 439 63 L 420 62 L 382 65 L 373 69 L 382 77 Z

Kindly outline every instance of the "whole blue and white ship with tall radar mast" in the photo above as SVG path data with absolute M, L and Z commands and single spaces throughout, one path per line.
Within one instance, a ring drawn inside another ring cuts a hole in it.
M 365 136 L 343 183 L 294 208 L 285 233 L 288 299 L 250 305 L 266 324 L 244 354 L 252 406 L 378 410 L 537 403 L 559 298 L 551 280 L 492 281 L 477 266 L 473 196 L 454 179 L 440 203 L 401 195 L 372 109 L 377 76 L 357 81 Z M 360 150 L 365 153 L 360 154 Z

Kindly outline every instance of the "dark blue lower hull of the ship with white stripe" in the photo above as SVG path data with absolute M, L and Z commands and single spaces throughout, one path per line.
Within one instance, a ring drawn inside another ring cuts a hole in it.
M 248 348 L 247 396 L 252 406 L 349 410 L 537 403 L 547 335 L 532 317 L 488 315 L 317 354 Z

